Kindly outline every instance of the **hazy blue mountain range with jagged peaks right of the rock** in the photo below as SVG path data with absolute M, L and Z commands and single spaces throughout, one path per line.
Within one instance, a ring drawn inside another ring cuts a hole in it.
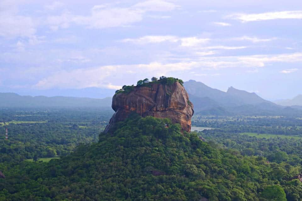
M 255 93 L 230 87 L 227 92 L 213 89 L 202 82 L 184 83 L 195 114 L 204 115 L 295 115 L 300 108 L 284 107 L 264 100 Z

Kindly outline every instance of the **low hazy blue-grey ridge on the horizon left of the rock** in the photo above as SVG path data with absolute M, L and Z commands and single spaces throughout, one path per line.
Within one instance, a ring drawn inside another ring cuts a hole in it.
M 21 96 L 15 93 L 0 93 L 0 108 L 111 107 L 111 101 L 111 97 L 93 99 L 64 96 Z

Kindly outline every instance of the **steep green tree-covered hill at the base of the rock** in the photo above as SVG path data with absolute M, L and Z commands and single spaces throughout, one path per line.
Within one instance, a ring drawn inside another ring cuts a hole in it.
M 302 186 L 285 167 L 202 142 L 169 119 L 132 116 L 69 156 L 6 171 L 0 200 L 286 201 L 284 189 Z

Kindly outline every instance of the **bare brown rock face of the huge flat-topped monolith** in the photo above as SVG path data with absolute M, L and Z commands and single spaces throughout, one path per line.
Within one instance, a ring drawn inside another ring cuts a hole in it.
M 131 112 L 142 117 L 170 118 L 173 123 L 180 123 L 182 130 L 190 132 L 193 104 L 185 88 L 175 82 L 172 85 L 150 83 L 150 86 L 134 87 L 130 93 L 113 96 L 111 117 L 104 132 L 107 133 L 115 122 L 123 121 Z

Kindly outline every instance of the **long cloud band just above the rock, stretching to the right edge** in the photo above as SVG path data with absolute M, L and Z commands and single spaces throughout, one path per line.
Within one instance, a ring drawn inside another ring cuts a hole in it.
M 94 68 L 79 68 L 71 71 L 59 71 L 40 80 L 33 87 L 38 89 L 50 88 L 86 88 L 86 87 L 111 87 L 119 89 L 123 85 L 124 78 L 135 72 L 137 77 L 145 77 L 146 74 L 154 76 L 169 75 L 174 73 L 196 72 L 199 76 L 219 76 L 219 73 L 204 74 L 204 70 L 220 68 L 255 68 L 264 67 L 274 62 L 301 62 L 302 53 L 280 55 L 251 55 L 229 57 L 199 57 L 190 62 L 151 62 L 148 64 L 110 65 Z M 297 69 L 287 69 L 294 72 Z M 133 76 L 133 75 L 131 75 Z M 108 85 L 108 83 L 114 83 Z

